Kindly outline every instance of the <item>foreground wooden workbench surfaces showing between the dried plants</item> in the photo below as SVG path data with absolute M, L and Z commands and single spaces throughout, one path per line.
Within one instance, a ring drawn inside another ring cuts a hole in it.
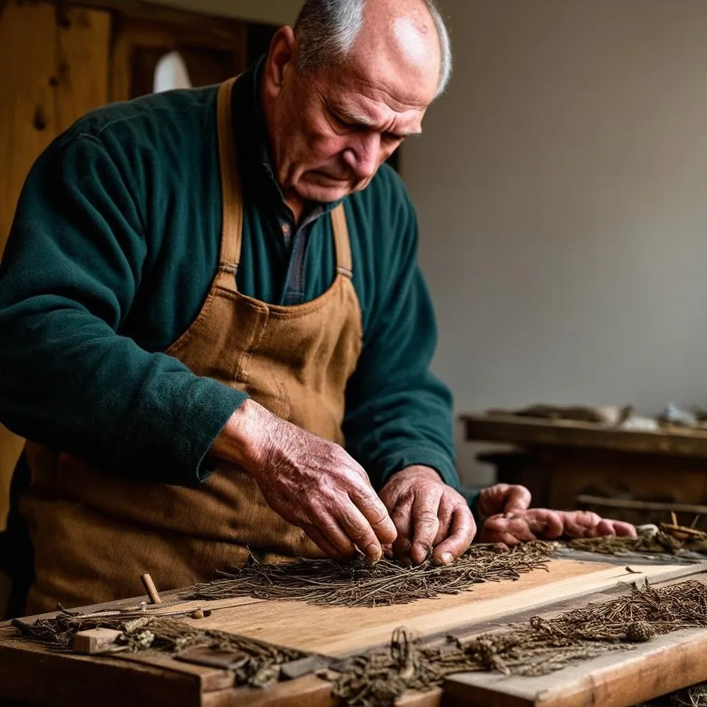
M 189 619 L 278 645 L 332 658 L 345 658 L 390 640 L 398 626 L 414 629 L 429 640 L 443 641 L 447 633 L 460 638 L 500 626 L 527 621 L 539 614 L 578 608 L 590 601 L 608 600 L 626 591 L 629 583 L 653 585 L 705 578 L 707 565 L 654 561 L 640 565 L 619 561 L 553 559 L 549 571 L 537 570 L 512 582 L 477 585 L 471 592 L 377 608 L 318 607 L 300 602 L 267 602 L 250 598 L 208 602 L 210 617 Z M 675 560 L 673 560 L 675 562 Z M 136 605 L 145 597 L 115 602 L 110 607 Z M 165 609 L 175 603 L 171 593 Z M 204 606 L 204 602 L 189 602 Z M 105 608 L 105 605 L 103 607 Z M 96 610 L 97 607 L 89 607 Z M 498 674 L 459 674 L 441 689 L 408 694 L 405 706 L 470 704 L 484 706 L 629 706 L 707 679 L 707 630 L 680 631 L 655 638 L 636 650 L 607 654 L 547 677 L 518 678 Z M 660 666 L 660 670 L 656 668 Z M 280 682 L 264 690 L 233 685 L 233 673 L 178 662 L 157 653 L 118 653 L 93 657 L 52 653 L 45 646 L 19 638 L 9 624 L 0 624 L 0 701 L 47 706 L 100 707 L 170 705 L 226 707 L 262 705 L 308 707 L 334 704 L 330 684 L 314 674 Z

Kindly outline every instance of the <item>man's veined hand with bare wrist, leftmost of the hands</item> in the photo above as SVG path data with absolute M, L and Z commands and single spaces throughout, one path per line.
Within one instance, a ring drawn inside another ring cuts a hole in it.
M 377 561 L 382 544 L 395 540 L 395 525 L 368 474 L 340 445 L 252 400 L 231 416 L 211 453 L 243 466 L 268 505 L 329 557 L 344 559 L 358 547 Z

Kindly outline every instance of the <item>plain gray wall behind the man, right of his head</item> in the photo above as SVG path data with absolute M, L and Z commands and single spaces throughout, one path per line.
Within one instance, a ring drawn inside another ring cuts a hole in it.
M 707 1 L 442 5 L 402 171 L 457 411 L 707 402 Z

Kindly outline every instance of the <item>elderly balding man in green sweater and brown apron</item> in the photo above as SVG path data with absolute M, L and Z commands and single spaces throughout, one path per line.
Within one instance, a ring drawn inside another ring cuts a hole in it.
M 0 416 L 32 440 L 28 610 L 249 550 L 467 549 L 416 218 L 382 166 L 449 76 L 431 1 L 310 0 L 243 76 L 109 105 L 37 160 L 0 286 Z

